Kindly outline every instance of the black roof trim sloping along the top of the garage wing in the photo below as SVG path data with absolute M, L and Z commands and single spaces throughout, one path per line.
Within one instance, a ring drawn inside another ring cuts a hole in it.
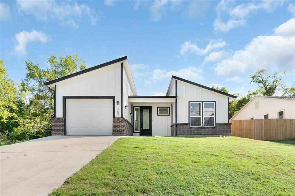
M 46 82 L 45 85 L 53 84 L 55 82 L 60 82 L 62 80 L 65 80 L 65 79 L 68 79 L 68 78 L 71 78 L 71 77 L 75 77 L 75 76 L 78 76 L 78 75 L 81 75 L 81 74 L 84 74 L 84 73 L 87 73 L 87 72 L 91 72 L 91 71 L 93 71 L 95 69 L 99 69 L 99 68 L 106 67 L 108 65 L 111 65 L 111 64 L 114 64 L 114 63 L 117 63 L 117 62 L 120 62 L 120 61 L 124 61 L 126 59 L 127 59 L 127 56 L 121 57 L 119 59 L 115 59 L 115 60 L 112 60 L 112 61 L 109 61 L 109 62 L 106 62 L 106 63 L 103 63 L 103 64 L 100 64 L 100 65 L 96 65 L 94 67 L 84 69 L 84 70 L 82 70 L 80 72 L 76 72 L 76 73 L 73 73 L 73 74 L 58 78 L 58 79 L 51 80 L 49 82 Z

